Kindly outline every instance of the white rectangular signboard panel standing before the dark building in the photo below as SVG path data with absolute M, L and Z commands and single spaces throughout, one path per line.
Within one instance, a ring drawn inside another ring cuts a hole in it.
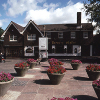
M 48 50 L 48 38 L 47 37 L 39 38 L 39 50 Z

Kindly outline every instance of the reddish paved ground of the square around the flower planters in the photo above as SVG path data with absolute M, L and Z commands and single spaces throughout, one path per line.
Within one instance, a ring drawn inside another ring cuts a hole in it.
M 82 63 L 78 70 L 73 70 L 70 61 L 64 61 L 67 72 L 59 85 L 52 85 L 46 73 L 48 61 L 29 69 L 24 77 L 18 77 L 14 64 L 20 60 L 23 59 L 6 59 L 5 63 L 0 63 L 0 72 L 9 72 L 14 76 L 12 86 L 0 100 L 51 100 L 53 97 L 98 100 L 85 71 L 89 63 Z

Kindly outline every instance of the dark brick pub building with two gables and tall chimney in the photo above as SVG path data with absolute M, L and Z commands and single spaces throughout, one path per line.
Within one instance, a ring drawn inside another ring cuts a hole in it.
M 66 19 L 67 20 L 67 19 Z M 72 57 L 93 55 L 92 23 L 37 25 L 30 20 L 25 27 L 11 21 L 1 37 L 4 37 L 5 58 L 39 57 L 39 37 L 48 37 L 48 57 Z

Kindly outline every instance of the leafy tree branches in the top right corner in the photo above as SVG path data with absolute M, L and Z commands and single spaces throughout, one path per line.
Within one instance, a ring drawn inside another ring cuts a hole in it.
M 90 3 L 84 2 L 84 8 L 86 16 L 89 15 L 88 22 L 96 22 L 94 28 L 97 33 L 100 32 L 100 0 L 88 0 Z

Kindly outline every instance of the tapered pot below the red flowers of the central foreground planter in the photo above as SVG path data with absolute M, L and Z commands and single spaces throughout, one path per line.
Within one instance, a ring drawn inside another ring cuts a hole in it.
M 57 74 L 57 73 L 47 73 L 50 81 L 52 84 L 57 85 L 61 82 L 62 78 L 64 77 L 64 73 L 63 74 Z

